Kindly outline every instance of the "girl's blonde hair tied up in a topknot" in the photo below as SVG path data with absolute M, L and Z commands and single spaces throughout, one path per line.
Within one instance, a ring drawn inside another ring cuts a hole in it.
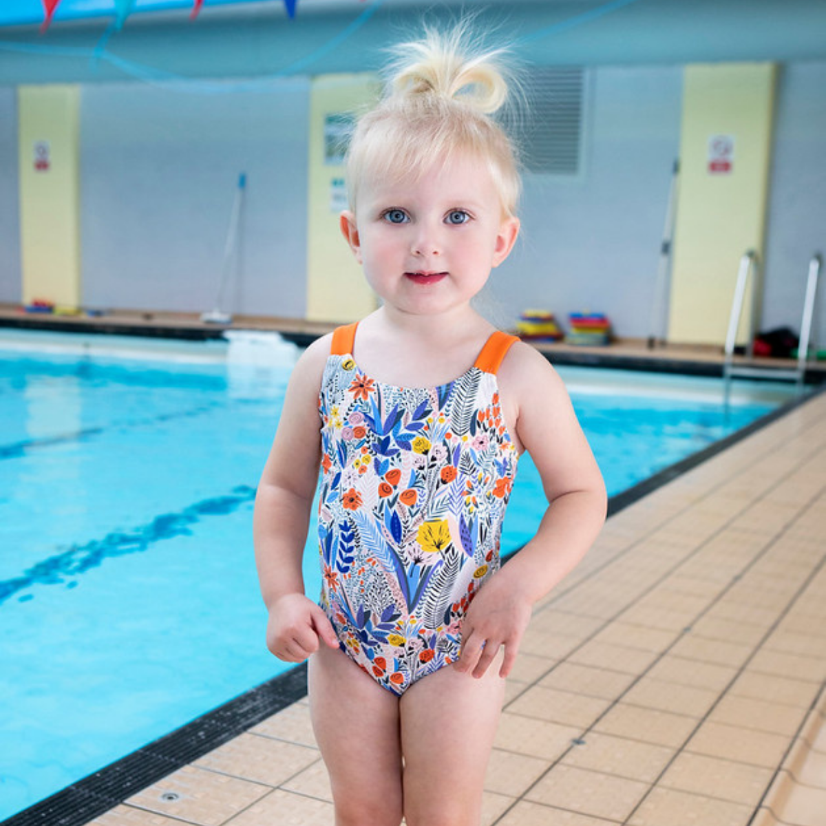
M 382 100 L 359 118 L 347 154 L 347 190 L 355 211 L 358 187 L 370 176 L 393 182 L 448 163 L 458 153 L 487 165 L 502 211 L 515 214 L 520 175 L 515 148 L 491 115 L 509 101 L 502 50 L 483 51 L 467 23 L 425 31 L 423 40 L 394 47 Z

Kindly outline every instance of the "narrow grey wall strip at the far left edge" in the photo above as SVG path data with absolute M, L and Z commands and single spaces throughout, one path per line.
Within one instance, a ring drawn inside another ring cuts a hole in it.
M 0 303 L 21 299 L 17 91 L 0 88 Z

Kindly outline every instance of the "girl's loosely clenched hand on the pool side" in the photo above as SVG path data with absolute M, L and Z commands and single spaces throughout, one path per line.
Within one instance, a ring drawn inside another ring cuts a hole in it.
M 321 642 L 339 647 L 330 619 L 303 594 L 287 594 L 273 602 L 267 622 L 267 648 L 284 662 L 304 662 Z

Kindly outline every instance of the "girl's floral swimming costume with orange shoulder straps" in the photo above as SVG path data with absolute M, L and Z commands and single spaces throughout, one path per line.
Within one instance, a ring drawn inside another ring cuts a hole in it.
M 401 695 L 458 658 L 500 566 L 518 454 L 496 370 L 518 339 L 496 332 L 455 381 L 407 388 L 358 368 L 355 330 L 335 330 L 319 396 L 320 605 L 340 648 Z

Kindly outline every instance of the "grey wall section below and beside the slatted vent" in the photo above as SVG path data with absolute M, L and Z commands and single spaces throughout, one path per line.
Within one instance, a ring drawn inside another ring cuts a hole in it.
M 681 96 L 680 67 L 591 70 L 582 175 L 525 179 L 523 237 L 491 285 L 507 316 L 603 311 L 648 335 Z

